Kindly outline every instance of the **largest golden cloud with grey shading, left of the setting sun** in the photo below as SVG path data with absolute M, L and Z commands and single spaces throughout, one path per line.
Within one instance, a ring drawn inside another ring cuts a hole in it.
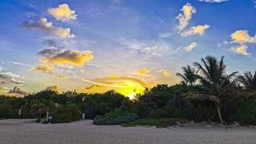
M 62 53 L 43 58 L 43 63 L 52 63 L 53 65 L 70 64 L 74 66 L 84 66 L 84 63 L 93 59 L 92 51 L 85 50 L 66 50 Z

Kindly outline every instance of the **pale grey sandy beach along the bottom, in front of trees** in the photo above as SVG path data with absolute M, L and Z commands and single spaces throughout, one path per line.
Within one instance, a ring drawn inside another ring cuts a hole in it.
M 31 120 L 0 120 L 0 143 L 256 143 L 256 129 L 187 125 L 185 127 L 120 127 L 92 125 L 91 120 L 44 125 Z

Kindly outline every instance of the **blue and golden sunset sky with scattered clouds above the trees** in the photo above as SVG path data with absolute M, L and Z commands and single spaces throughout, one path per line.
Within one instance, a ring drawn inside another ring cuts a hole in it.
M 0 94 L 134 96 L 206 55 L 255 71 L 255 0 L 0 0 Z

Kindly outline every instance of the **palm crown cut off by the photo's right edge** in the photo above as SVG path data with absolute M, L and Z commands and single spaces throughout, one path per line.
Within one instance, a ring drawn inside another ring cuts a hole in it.
M 251 72 L 245 72 L 244 76 L 239 76 L 239 81 L 244 85 L 244 88 L 250 91 L 256 90 L 256 71 L 254 76 Z

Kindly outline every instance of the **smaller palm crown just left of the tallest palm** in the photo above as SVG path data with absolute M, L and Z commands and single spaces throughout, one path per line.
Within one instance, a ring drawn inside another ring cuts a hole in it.
M 176 76 L 182 78 L 182 82 L 184 82 L 186 85 L 192 86 L 193 84 L 195 84 L 195 81 L 197 80 L 195 75 L 198 73 L 198 71 L 195 71 L 195 68 L 192 68 L 189 65 L 187 65 L 187 67 L 182 67 L 182 71 L 183 74 L 176 73 Z

